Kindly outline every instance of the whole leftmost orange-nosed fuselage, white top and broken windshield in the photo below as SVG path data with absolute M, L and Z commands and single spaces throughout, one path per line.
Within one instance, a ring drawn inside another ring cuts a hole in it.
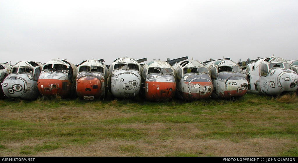
M 76 66 L 66 60 L 50 60 L 38 78 L 38 90 L 42 95 L 68 97 L 74 92 Z

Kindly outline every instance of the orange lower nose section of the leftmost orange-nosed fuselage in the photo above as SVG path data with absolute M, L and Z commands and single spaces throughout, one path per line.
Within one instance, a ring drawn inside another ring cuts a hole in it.
M 38 91 L 45 96 L 59 95 L 66 97 L 71 89 L 69 80 L 39 79 L 37 83 Z

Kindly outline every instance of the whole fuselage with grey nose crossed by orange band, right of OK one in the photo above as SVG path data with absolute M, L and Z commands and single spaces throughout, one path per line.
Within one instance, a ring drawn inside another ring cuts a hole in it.
M 183 100 L 209 98 L 212 93 L 212 81 L 207 66 L 198 60 L 181 61 L 173 65 L 177 79 L 176 95 Z

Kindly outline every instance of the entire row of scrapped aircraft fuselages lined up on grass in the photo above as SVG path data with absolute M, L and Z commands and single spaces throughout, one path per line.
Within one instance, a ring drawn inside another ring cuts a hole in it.
M 0 93 L 1 97 L 34 100 L 40 94 L 70 97 L 76 91 L 79 97 L 94 100 L 104 98 L 109 89 L 117 98 L 142 94 L 146 100 L 164 101 L 176 94 L 182 100 L 192 101 L 210 96 L 241 97 L 246 91 L 277 95 L 298 88 L 298 60 L 272 56 L 243 63 L 229 58 L 203 63 L 184 60 L 187 58 L 154 60 L 143 66 L 139 62 L 146 58 L 126 57 L 114 60 L 110 66 L 103 60 L 86 60 L 75 66 L 60 59 L 45 64 L 0 64 Z

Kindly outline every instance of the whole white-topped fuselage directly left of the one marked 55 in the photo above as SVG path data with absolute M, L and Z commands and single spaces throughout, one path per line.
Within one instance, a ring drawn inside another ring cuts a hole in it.
M 248 82 L 237 63 L 232 60 L 215 60 L 207 63 L 211 74 L 214 97 L 241 97 L 246 93 Z

